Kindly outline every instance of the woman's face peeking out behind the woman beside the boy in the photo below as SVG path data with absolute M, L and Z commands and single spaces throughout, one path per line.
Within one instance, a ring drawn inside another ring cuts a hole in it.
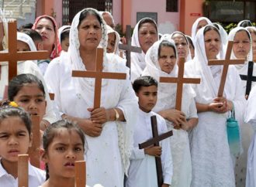
M 175 46 L 178 49 L 178 57 L 187 57 L 189 54 L 189 45 L 182 34 L 176 33 L 171 37 L 175 41 Z

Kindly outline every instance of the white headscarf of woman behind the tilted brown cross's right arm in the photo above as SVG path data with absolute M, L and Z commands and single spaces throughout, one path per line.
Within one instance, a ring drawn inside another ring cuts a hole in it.
M 234 41 L 234 37 L 236 36 L 237 32 L 239 32 L 239 31 L 241 31 L 241 30 L 244 30 L 245 32 L 247 32 L 247 34 L 248 34 L 248 36 L 249 36 L 249 39 L 250 39 L 251 46 L 250 46 L 250 51 L 249 51 L 249 53 L 247 54 L 247 59 L 245 59 L 246 62 L 245 62 L 244 64 L 237 64 L 237 65 L 235 65 L 236 68 L 237 68 L 237 70 L 239 70 L 239 71 L 242 70 L 242 69 L 244 69 L 244 68 L 247 68 L 247 63 L 248 63 L 249 61 L 252 61 L 252 58 L 253 58 L 251 34 L 250 34 L 250 32 L 249 32 L 247 29 L 245 29 L 244 27 L 235 27 L 234 29 L 232 29 L 232 30 L 230 31 L 230 33 L 229 33 L 229 35 L 228 35 L 228 40 L 229 40 L 229 41 Z M 237 59 L 237 57 L 234 55 L 234 51 L 233 51 L 233 50 L 232 50 L 232 52 L 231 52 L 231 57 L 230 57 L 230 59 Z

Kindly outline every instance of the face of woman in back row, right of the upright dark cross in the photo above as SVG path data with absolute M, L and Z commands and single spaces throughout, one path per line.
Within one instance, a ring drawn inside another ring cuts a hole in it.
M 144 53 L 147 53 L 147 49 L 150 48 L 158 39 L 157 29 L 150 22 L 145 22 L 139 29 L 139 42 L 140 47 Z

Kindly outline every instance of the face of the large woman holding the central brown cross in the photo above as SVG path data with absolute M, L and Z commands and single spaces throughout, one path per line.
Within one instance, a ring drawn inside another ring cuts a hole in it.
M 97 49 L 102 39 L 102 27 L 95 15 L 87 15 L 78 26 L 80 49 Z

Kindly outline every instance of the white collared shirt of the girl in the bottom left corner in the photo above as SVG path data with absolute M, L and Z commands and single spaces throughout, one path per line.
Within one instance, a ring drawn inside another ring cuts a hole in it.
M 30 165 L 29 163 L 29 187 L 42 185 L 45 181 L 46 174 L 43 170 Z M 12 175 L 5 171 L 0 163 L 0 186 L 1 187 L 18 187 L 18 178 L 15 179 Z

